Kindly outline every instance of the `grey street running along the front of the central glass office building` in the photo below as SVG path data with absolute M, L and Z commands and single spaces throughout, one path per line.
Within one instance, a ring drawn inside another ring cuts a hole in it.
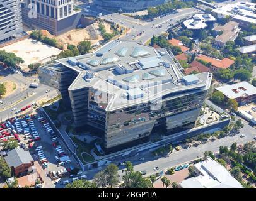
M 240 117 L 238 117 L 240 119 Z M 177 166 L 182 163 L 187 163 L 188 161 L 195 160 L 196 158 L 204 156 L 205 151 L 212 151 L 217 153 L 219 151 L 219 146 L 231 146 L 232 143 L 245 144 L 247 141 L 252 141 L 256 136 L 256 129 L 248 125 L 248 122 L 241 119 L 245 125 L 241 130 L 240 134 L 236 136 L 228 136 L 221 139 L 216 139 L 213 142 L 207 142 L 206 144 L 201 144 L 197 147 L 191 147 L 187 149 L 181 149 L 180 151 L 173 151 L 172 154 L 168 156 L 154 157 L 151 155 L 151 150 L 146 149 L 137 153 L 135 156 L 131 156 L 131 152 L 127 152 L 127 156 L 123 155 L 122 157 L 117 157 L 116 160 L 111 161 L 112 163 L 118 164 L 125 160 L 129 160 L 134 165 L 135 171 L 146 171 L 147 175 L 154 173 L 154 167 L 158 166 L 159 170 L 166 170 L 172 166 Z M 245 134 L 244 138 L 240 138 L 241 134 Z M 139 158 L 144 158 L 143 161 L 139 161 Z M 113 158 L 112 158 L 113 159 Z M 103 166 L 104 167 L 104 166 Z M 93 179 L 93 175 L 98 171 L 102 170 L 103 167 L 86 171 L 88 179 Z M 119 175 L 122 177 L 124 166 L 120 166 Z M 146 175 L 146 176 L 147 176 Z

